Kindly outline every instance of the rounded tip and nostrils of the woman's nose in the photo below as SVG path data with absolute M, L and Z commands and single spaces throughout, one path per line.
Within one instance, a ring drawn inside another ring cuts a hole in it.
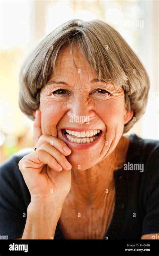
M 88 121 L 91 121 L 95 116 L 95 111 L 90 102 L 84 99 L 75 99 L 73 103 L 70 103 L 67 106 L 69 110 L 67 111 L 67 115 L 69 119 L 73 118 L 76 120 L 74 122 L 78 124 L 84 124 Z

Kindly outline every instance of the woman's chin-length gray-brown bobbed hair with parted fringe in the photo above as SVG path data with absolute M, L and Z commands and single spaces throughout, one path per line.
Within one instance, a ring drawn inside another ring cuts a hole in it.
M 56 61 L 65 46 L 73 47 L 97 74 L 99 80 L 123 88 L 127 110 L 134 110 L 133 118 L 124 126 L 127 132 L 145 113 L 150 82 L 148 74 L 137 55 L 108 24 L 100 20 L 73 19 L 60 25 L 35 47 L 24 61 L 19 74 L 19 107 L 31 120 L 40 104 L 40 91 L 56 73 Z M 73 60 L 74 63 L 74 60 Z M 74 63 L 75 65 L 75 63 Z M 135 119 L 134 119 L 135 118 Z

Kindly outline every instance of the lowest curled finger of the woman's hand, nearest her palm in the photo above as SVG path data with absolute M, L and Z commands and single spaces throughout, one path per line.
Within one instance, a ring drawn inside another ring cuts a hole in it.
M 33 169 L 40 173 L 44 164 L 47 164 L 51 169 L 55 171 L 62 170 L 62 166 L 60 166 L 50 154 L 42 149 L 30 153 L 27 158 L 24 157 L 21 160 L 22 161 L 19 161 L 19 169 L 21 170 L 22 174 L 32 172 L 31 174 L 33 175 Z M 39 166 L 39 164 L 41 164 L 41 166 Z M 25 168 L 23 168 L 24 166 Z

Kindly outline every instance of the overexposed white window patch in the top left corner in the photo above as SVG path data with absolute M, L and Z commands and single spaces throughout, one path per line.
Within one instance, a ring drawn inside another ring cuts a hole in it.
M 1 49 L 27 45 L 29 26 L 29 1 L 1 1 Z

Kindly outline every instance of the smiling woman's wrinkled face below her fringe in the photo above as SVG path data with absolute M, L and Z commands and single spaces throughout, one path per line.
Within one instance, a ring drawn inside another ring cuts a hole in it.
M 65 141 L 72 151 L 66 157 L 72 168 L 85 170 L 115 149 L 133 111 L 126 111 L 123 89 L 116 90 L 113 84 L 98 82 L 76 47 L 73 57 L 77 68 L 68 48 L 59 56 L 56 75 L 52 75 L 41 90 L 39 110 L 42 112 L 42 133 Z M 72 141 L 68 135 L 69 139 L 66 137 L 65 130 L 69 130 Z M 100 130 L 100 133 L 91 130 Z M 90 132 L 85 134 L 86 131 Z M 98 137 L 86 140 L 93 136 Z

